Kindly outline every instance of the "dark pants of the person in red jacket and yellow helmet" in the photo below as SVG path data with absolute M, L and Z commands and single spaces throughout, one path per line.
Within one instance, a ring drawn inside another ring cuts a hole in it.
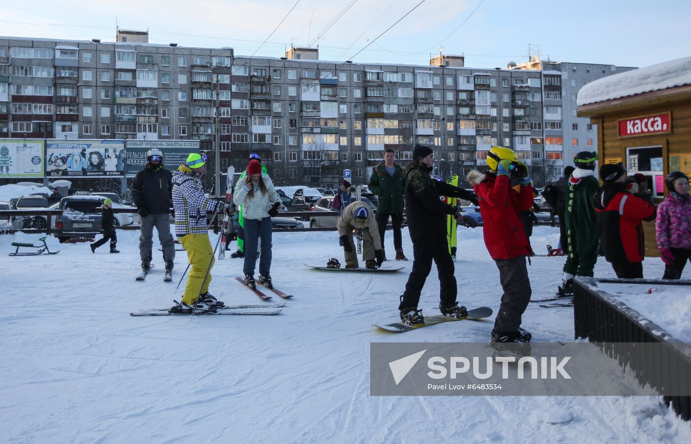
M 494 320 L 494 331 L 499 334 L 515 333 L 521 324 L 521 316 L 528 307 L 531 288 L 525 256 L 511 259 L 495 259 L 502 284 L 502 303 Z

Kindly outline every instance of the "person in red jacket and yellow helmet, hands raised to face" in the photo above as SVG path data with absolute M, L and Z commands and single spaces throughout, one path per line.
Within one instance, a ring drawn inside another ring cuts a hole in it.
M 525 164 L 513 150 L 493 146 L 487 155 L 486 173 L 471 171 L 484 221 L 484 244 L 499 269 L 504 294 L 492 330 L 492 342 L 528 342 L 531 334 L 520 328 L 521 316 L 531 296 L 526 256 L 531 253 L 518 211 L 533 205 L 533 187 Z M 520 184 L 520 191 L 511 185 Z

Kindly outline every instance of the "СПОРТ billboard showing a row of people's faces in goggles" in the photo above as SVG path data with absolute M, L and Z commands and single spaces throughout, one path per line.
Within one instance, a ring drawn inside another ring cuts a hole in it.
M 124 160 L 124 140 L 46 142 L 46 177 L 122 177 Z

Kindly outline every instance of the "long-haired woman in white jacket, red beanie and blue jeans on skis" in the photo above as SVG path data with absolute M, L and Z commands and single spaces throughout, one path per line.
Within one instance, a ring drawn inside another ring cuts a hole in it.
M 247 177 L 244 186 L 236 187 L 233 202 L 243 206 L 245 218 L 245 284 L 252 289 L 254 268 L 257 261 L 257 244 L 261 238 L 261 257 L 259 260 L 259 283 L 273 288 L 271 282 L 271 216 L 278 213 L 281 198 L 278 197 L 274 183 L 267 174 L 261 171 L 261 164 L 251 160 L 247 166 Z

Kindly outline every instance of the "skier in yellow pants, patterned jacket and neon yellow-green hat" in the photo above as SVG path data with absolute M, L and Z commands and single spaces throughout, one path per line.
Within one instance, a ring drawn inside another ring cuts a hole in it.
M 223 307 L 223 302 L 216 300 L 209 293 L 214 250 L 211 248 L 207 231 L 207 211 L 220 213 L 225 205 L 204 195 L 201 181 L 205 171 L 204 165 L 205 158 L 202 155 L 191 153 L 187 157 L 187 162 L 173 173 L 175 232 L 182 247 L 187 251 L 191 270 L 184 287 L 182 302 L 171 308 L 171 313 L 202 313 Z

